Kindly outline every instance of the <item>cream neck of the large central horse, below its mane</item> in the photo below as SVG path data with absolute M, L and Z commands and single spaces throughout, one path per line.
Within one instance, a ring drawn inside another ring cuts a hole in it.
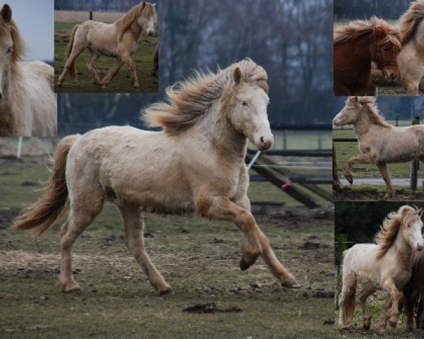
M 230 124 L 220 100 L 213 103 L 203 119 L 193 129 L 214 148 L 218 155 L 245 162 L 247 138 Z

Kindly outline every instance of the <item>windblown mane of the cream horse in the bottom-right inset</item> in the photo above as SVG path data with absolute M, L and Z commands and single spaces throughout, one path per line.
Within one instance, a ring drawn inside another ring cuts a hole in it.
M 381 259 L 389 248 L 394 244 L 399 229 L 404 222 L 420 218 L 418 208 L 411 206 L 402 206 L 398 212 L 392 212 L 384 219 L 383 225 L 375 236 L 375 242 L 379 249 L 377 251 L 377 259 Z

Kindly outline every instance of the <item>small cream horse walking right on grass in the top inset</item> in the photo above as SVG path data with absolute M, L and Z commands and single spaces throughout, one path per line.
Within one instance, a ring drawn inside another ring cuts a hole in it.
M 93 76 L 95 85 L 106 88 L 122 65 L 128 64 L 131 68 L 131 83 L 135 88 L 139 88 L 136 64 L 131 59 L 131 54 L 136 52 L 142 32 L 145 35 L 153 35 L 155 32 L 153 24 L 156 18 L 155 5 L 143 2 L 131 8 L 114 23 L 107 24 L 88 20 L 81 25 L 76 25 L 71 32 L 71 38 L 66 48 L 64 71 L 59 76 L 57 85 L 62 85 L 68 71 L 73 81 L 76 81 L 74 61 L 84 49 L 88 48 L 90 59 L 87 67 Z M 102 81 L 100 81 L 98 73 L 94 69 L 94 64 L 98 61 L 100 55 L 117 58 L 115 66 L 110 69 Z

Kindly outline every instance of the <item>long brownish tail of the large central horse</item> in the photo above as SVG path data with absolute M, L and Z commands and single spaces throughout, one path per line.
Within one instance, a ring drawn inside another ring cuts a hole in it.
M 68 209 L 68 187 L 66 186 L 66 158 L 79 134 L 66 136 L 61 140 L 56 150 L 52 178 L 47 194 L 29 206 L 16 219 L 13 230 L 24 231 L 34 229 L 35 236 L 45 232 L 57 222 Z

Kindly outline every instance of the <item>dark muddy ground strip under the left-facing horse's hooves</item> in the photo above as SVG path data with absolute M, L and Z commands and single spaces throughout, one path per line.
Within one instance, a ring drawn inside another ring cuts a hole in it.
M 378 201 L 383 200 L 383 197 L 384 193 L 372 188 L 353 190 L 349 187 L 342 187 L 340 191 L 333 191 L 334 201 Z M 395 189 L 394 200 L 424 200 L 424 192 L 417 191 L 414 194 L 411 194 L 411 191 L 407 191 L 405 189 Z

